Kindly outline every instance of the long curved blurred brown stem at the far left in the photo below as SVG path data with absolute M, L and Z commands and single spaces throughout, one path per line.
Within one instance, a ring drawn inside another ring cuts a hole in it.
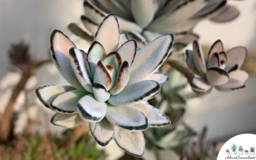
M 36 73 L 39 67 L 51 61 L 52 60 L 42 60 L 34 63 L 31 62 L 27 69 L 22 72 L 21 79 L 19 83 L 14 87 L 11 98 L 4 110 L 4 113 L 0 116 L 0 141 L 6 141 L 10 135 L 10 121 L 12 117 L 13 107 L 20 92 L 24 89 L 24 86 L 27 83 L 28 79 L 30 78 L 30 76 Z

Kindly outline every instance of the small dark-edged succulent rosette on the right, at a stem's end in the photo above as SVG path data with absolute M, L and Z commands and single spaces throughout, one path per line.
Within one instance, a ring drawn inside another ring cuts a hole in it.
M 217 40 L 205 60 L 202 47 L 197 40 L 193 42 L 193 51 L 186 50 L 187 64 L 199 77 L 190 84 L 195 91 L 206 92 L 212 87 L 221 91 L 233 91 L 245 87 L 248 73 L 240 70 L 247 55 L 245 47 L 237 46 L 224 52 L 223 44 Z

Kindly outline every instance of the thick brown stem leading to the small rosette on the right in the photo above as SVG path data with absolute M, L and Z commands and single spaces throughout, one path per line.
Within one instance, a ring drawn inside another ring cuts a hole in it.
M 165 62 L 172 68 L 180 71 L 180 73 L 182 73 L 188 79 L 188 82 L 191 82 L 192 78 L 194 77 L 194 73 L 189 68 L 184 67 L 177 60 L 173 60 L 171 58 L 167 58 Z

